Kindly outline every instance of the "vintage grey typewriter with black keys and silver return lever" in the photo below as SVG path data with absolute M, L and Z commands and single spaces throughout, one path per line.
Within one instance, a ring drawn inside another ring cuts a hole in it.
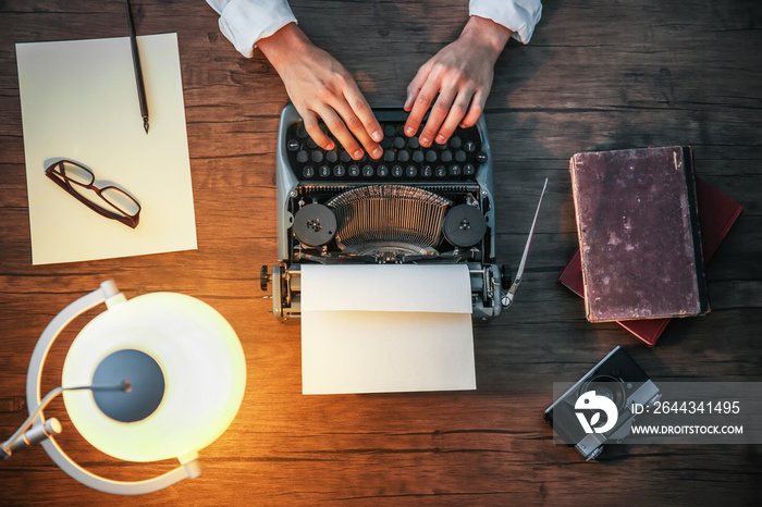
M 466 263 L 474 321 L 499 316 L 513 301 L 529 240 L 512 284 L 508 270 L 495 263 L 493 171 L 483 118 L 458 128 L 447 144 L 423 148 L 402 133 L 405 111 L 373 112 L 383 128 L 384 154 L 359 161 L 339 143 L 334 151 L 318 147 L 293 106 L 281 114 L 279 261 L 271 273 L 267 265 L 260 272 L 262 290 L 272 283 L 274 316 L 299 317 L 300 265 L 357 262 Z

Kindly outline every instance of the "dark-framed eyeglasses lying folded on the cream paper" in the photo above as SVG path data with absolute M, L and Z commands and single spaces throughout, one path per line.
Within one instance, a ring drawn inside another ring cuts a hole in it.
M 74 196 L 79 202 L 107 219 L 118 220 L 133 228 L 140 221 L 140 203 L 114 185 L 95 186 L 93 171 L 71 160 L 59 160 L 45 170 L 46 176 Z

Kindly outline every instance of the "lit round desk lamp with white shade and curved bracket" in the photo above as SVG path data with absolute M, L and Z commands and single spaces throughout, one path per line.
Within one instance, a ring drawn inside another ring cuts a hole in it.
M 62 387 L 40 400 L 42 367 L 53 342 L 74 318 L 100 302 L 107 311 L 83 327 L 66 354 Z M 127 300 L 108 281 L 64 308 L 42 332 L 26 382 L 29 419 L 0 446 L 0 455 L 39 442 L 63 471 L 89 487 L 151 493 L 200 475 L 198 450 L 228 429 L 245 386 L 238 337 L 213 308 L 174 293 Z M 54 440 L 59 421 L 42 416 L 60 392 L 72 423 L 94 447 L 126 461 L 177 458 L 180 466 L 136 482 L 105 479 L 79 467 Z

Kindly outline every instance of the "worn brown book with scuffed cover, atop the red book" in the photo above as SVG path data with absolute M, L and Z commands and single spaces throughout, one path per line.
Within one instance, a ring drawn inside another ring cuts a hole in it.
M 692 149 L 582 152 L 570 173 L 588 320 L 709 312 Z

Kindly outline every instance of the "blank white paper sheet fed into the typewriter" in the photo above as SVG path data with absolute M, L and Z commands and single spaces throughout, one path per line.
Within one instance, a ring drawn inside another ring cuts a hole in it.
M 475 388 L 467 265 L 302 265 L 304 394 Z

